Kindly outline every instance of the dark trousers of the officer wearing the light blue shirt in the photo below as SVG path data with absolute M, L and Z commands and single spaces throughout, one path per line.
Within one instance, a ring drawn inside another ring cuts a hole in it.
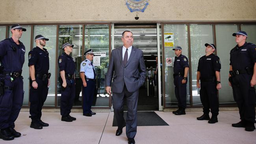
M 87 87 L 83 87 L 83 114 L 91 113 L 93 95 L 95 90 L 95 81 L 86 80 Z

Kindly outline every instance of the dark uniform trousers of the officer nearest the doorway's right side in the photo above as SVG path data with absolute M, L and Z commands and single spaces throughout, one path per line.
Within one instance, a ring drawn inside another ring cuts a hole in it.
M 178 100 L 178 107 L 187 107 L 187 81 L 182 84 L 183 76 L 175 76 L 174 77 L 174 85 L 175 85 L 175 96 Z

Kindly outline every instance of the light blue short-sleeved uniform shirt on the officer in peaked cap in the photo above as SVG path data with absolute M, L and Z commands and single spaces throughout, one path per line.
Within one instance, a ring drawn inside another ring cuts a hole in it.
M 91 61 L 89 61 L 89 59 L 82 61 L 80 65 L 80 72 L 84 72 L 86 78 L 94 79 L 93 69 L 95 70 L 95 67 L 91 65 Z

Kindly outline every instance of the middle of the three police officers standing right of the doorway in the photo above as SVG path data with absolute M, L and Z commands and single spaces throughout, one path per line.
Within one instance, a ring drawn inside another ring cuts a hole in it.
M 197 88 L 200 89 L 200 100 L 203 105 L 204 114 L 197 117 L 197 120 L 209 120 L 209 124 L 218 122 L 219 101 L 217 90 L 221 89 L 221 62 L 213 52 L 216 50 L 214 44 L 204 44 L 206 46 L 206 55 L 198 61 L 197 68 Z M 199 83 L 200 79 L 200 83 Z M 211 119 L 209 112 L 211 109 Z

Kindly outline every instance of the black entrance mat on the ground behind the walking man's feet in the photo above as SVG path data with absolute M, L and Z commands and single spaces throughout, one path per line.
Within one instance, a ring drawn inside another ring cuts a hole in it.
M 124 120 L 126 120 L 124 112 Z M 117 126 L 117 120 L 114 115 L 112 126 Z M 154 111 L 139 111 L 137 112 L 137 126 L 169 126 L 160 116 Z

